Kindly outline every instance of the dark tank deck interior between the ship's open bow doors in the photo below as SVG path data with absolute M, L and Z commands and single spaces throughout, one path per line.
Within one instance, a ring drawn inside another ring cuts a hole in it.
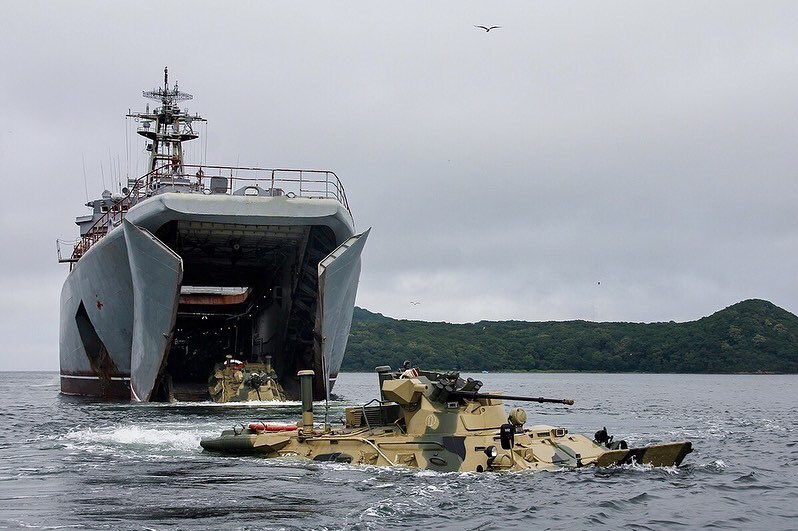
M 313 363 L 319 261 L 335 248 L 324 226 L 170 222 L 157 236 L 183 259 L 174 339 L 159 399 L 207 398 L 208 376 L 226 355 L 270 355 L 281 383 Z M 205 391 L 203 393 L 203 390 Z

